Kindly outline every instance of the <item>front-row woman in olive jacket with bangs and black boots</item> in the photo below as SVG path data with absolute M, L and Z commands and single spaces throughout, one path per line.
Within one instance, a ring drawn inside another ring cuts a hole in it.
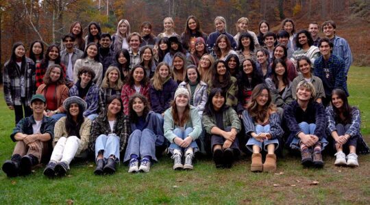
M 241 123 L 232 107 L 225 105 L 226 92 L 220 87 L 212 88 L 203 115 L 207 150 L 212 149 L 217 168 L 232 167 L 234 158 L 240 154 L 236 135 Z M 209 152 L 209 151 L 208 151 Z

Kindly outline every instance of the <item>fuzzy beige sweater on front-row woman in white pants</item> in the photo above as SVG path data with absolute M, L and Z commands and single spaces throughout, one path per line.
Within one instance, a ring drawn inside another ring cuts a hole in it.
M 90 128 L 91 120 L 85 118 L 84 123 L 82 123 L 81 128 L 79 129 L 79 136 L 81 137 L 81 143 L 79 144 L 76 156 L 81 152 L 84 152 L 88 148 L 88 142 L 90 139 Z M 67 137 L 68 133 L 66 132 L 66 117 L 60 118 L 54 126 L 54 140 L 53 147 L 56 146 L 56 143 L 60 137 Z

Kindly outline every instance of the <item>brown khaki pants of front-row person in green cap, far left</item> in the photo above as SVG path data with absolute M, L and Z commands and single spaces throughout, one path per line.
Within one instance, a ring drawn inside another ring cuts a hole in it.
M 13 155 L 19 154 L 21 156 L 25 156 L 26 154 L 32 154 L 37 157 L 38 163 L 41 161 L 41 157 L 43 154 L 47 153 L 49 148 L 47 141 L 35 141 L 40 148 L 40 150 L 34 150 L 29 148 L 24 141 L 17 141 L 16 146 L 14 147 Z

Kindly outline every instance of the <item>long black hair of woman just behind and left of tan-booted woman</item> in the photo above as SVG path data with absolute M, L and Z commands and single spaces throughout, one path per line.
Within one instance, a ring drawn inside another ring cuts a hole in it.
M 248 80 L 247 74 L 244 72 L 244 62 L 250 61 L 251 65 L 253 67 L 252 73 L 251 73 L 251 82 Z M 239 92 L 243 91 L 243 89 L 253 89 L 256 85 L 260 83 L 264 83 L 263 77 L 261 76 L 260 72 L 257 70 L 256 62 L 252 59 L 245 59 L 242 64 L 240 64 L 240 78 L 238 79 L 238 86 L 239 86 Z

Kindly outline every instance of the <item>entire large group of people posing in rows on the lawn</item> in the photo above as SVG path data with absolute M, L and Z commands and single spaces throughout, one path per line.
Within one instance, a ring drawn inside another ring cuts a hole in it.
M 46 176 L 64 176 L 89 155 L 97 175 L 113 174 L 121 159 L 128 172 L 149 172 L 164 150 L 173 169 L 193 169 L 196 153 L 232 167 L 243 151 L 252 172 L 275 172 L 284 146 L 323 167 L 328 143 L 335 165 L 358 166 L 356 153 L 370 150 L 348 103 L 351 51 L 334 21 L 321 25 L 324 38 L 317 23 L 295 33 L 287 18 L 273 33 L 262 20 L 257 35 L 248 24 L 240 18 L 232 36 L 217 16 L 207 35 L 189 16 L 180 36 L 167 17 L 156 37 L 151 23 L 131 33 L 122 19 L 114 35 L 93 22 L 84 38 L 76 22 L 45 55 L 33 42 L 29 57 L 16 42 L 3 72 L 16 146 L 3 172 L 27 175 L 47 161 Z

